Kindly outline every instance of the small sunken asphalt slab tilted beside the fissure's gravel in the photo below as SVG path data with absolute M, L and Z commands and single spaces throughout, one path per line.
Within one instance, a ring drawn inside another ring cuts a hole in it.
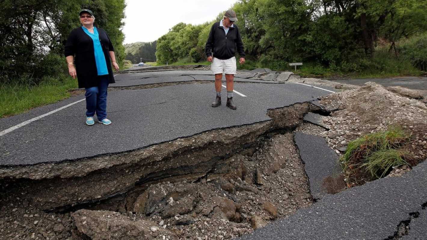
M 341 173 L 338 156 L 328 146 L 324 138 L 301 132 L 294 134 L 305 172 L 310 182 L 310 191 L 314 199 L 321 199 L 327 194 L 323 181 L 327 177 L 336 177 Z

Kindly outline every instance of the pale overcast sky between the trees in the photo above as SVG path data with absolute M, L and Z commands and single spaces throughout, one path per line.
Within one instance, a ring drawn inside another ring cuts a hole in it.
M 194 25 L 211 21 L 236 2 L 237 0 L 126 0 L 124 43 L 155 41 L 180 22 Z

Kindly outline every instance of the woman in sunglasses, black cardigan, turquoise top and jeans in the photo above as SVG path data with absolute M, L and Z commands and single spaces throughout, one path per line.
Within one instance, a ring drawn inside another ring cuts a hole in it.
M 68 72 L 74 79 L 77 77 L 79 88 L 86 89 L 86 124 L 94 125 L 96 112 L 99 123 L 109 125 L 107 88 L 109 83 L 114 83 L 111 64 L 115 70 L 119 70 L 119 65 L 107 33 L 94 26 L 93 12 L 83 9 L 79 15 L 82 26 L 71 31 L 65 44 Z

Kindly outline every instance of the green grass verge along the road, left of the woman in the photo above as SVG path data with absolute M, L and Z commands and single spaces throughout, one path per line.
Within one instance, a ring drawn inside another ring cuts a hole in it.
M 30 81 L 27 81 L 30 82 Z M 0 85 L 0 117 L 20 114 L 31 108 L 46 105 L 70 97 L 68 92 L 77 88 L 77 80 L 71 77 L 45 78 L 39 85 Z

